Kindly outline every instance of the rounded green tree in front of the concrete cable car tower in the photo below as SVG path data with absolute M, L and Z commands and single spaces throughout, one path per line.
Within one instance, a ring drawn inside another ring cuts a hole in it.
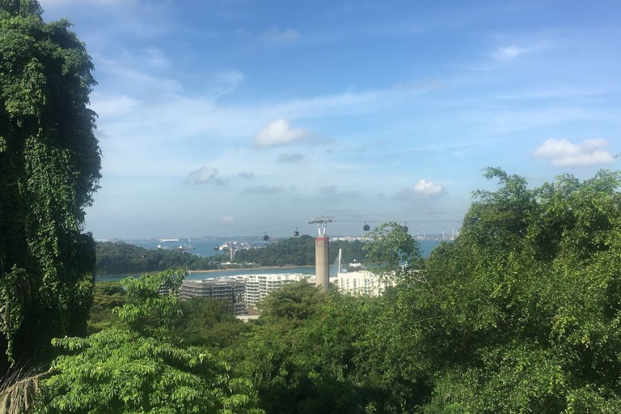
M 262 408 L 284 414 L 373 412 L 378 392 L 364 374 L 357 375 L 366 359 L 358 340 L 371 322 L 363 300 L 304 281 L 263 299 L 259 323 L 231 357 L 257 387 Z

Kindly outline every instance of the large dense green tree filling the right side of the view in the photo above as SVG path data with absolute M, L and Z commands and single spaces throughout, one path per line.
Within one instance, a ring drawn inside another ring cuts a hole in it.
M 368 342 L 392 400 L 424 413 L 620 412 L 621 174 L 539 188 L 485 176 L 500 187 L 475 192 L 455 242 L 380 299 Z M 377 241 L 393 264 L 409 250 L 394 237 Z

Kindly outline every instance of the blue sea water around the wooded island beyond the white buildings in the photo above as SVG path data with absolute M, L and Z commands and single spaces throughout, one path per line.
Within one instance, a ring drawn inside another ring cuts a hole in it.
M 162 248 L 165 246 L 170 248 L 175 248 L 179 246 L 179 244 L 195 244 L 195 250 L 188 250 L 188 252 L 195 253 L 204 252 L 205 256 L 212 256 L 215 253 L 213 250 L 213 246 L 220 246 L 221 244 L 227 242 L 225 239 L 215 239 L 215 240 L 204 240 L 204 239 L 181 239 L 179 242 L 132 242 L 132 244 L 136 244 L 137 246 L 141 246 L 144 248 L 157 248 L 157 245 L 160 244 Z M 429 257 L 431 254 L 431 250 L 433 250 L 438 244 L 440 244 L 440 240 L 421 240 L 420 242 L 420 250 L 423 257 Z M 343 258 L 345 263 L 348 262 L 347 257 Z M 210 279 L 212 277 L 221 277 L 221 276 L 234 276 L 234 275 L 264 275 L 269 273 L 302 273 L 303 275 L 315 275 L 315 266 L 301 266 L 301 267 L 287 267 L 287 268 L 262 268 L 262 269 L 230 269 L 230 270 L 213 270 L 210 272 L 190 272 L 190 274 L 186 277 L 186 279 Z M 117 276 L 102 276 L 97 277 L 97 281 L 99 282 L 115 282 L 121 279 L 124 279 L 128 276 L 137 276 L 137 275 L 117 275 Z

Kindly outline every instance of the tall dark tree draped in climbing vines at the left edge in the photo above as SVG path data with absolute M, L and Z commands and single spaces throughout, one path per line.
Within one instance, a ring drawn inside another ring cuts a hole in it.
M 70 26 L 0 1 L 0 368 L 86 330 L 95 244 L 81 232 L 100 152 L 92 63 Z

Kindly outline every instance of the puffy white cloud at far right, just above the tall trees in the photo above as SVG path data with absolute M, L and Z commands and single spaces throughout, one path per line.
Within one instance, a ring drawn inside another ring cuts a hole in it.
M 558 167 L 610 164 L 613 156 L 603 149 L 607 146 L 605 139 L 586 139 L 580 144 L 571 144 L 566 139 L 548 139 L 535 150 L 534 155 Z

